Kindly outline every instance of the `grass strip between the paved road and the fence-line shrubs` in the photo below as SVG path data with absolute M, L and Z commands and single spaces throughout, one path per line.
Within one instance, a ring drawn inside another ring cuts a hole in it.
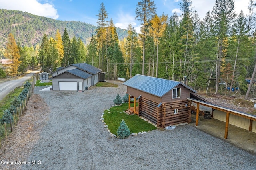
M 9 109 L 11 106 L 11 102 L 15 96 L 19 96 L 19 94 L 22 92 L 24 88 L 23 87 L 16 87 L 14 90 L 12 90 L 8 95 L 6 95 L 0 102 L 0 118 L 3 115 L 3 111 L 6 109 Z

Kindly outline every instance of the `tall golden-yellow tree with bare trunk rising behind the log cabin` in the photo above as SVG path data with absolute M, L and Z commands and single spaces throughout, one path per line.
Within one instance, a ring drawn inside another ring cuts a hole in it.
M 156 77 L 158 73 L 158 43 L 159 38 L 162 37 L 165 27 L 166 27 L 167 15 L 162 15 L 158 17 L 155 15 L 150 21 L 151 26 L 149 28 L 150 35 L 154 38 L 154 44 L 156 45 Z M 154 69 L 154 68 L 153 68 Z

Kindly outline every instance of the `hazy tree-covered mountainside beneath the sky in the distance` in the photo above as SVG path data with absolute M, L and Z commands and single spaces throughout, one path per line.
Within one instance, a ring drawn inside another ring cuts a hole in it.
M 32 46 L 40 43 L 45 33 L 54 37 L 57 29 L 63 34 L 65 28 L 70 38 L 81 38 L 86 45 L 97 29 L 94 25 L 80 21 L 59 21 L 28 12 L 0 9 L 0 48 L 5 47 L 9 33 L 14 35 L 20 45 Z M 116 32 L 119 39 L 127 37 L 125 29 L 117 28 Z

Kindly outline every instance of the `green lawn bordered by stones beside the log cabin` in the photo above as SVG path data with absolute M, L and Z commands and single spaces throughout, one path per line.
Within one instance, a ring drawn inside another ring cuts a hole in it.
M 131 107 L 133 106 L 134 105 L 131 104 Z M 117 135 L 117 129 L 120 126 L 122 119 L 124 119 L 131 133 L 152 131 L 157 129 L 154 125 L 144 121 L 143 119 L 140 119 L 138 115 L 127 115 L 124 113 L 126 109 L 128 109 L 128 103 L 123 103 L 121 106 L 114 106 L 109 110 L 104 111 L 105 114 L 103 118 L 111 133 Z

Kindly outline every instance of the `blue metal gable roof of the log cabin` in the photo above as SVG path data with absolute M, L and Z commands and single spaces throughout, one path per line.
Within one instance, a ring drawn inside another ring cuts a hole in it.
M 136 76 L 130 78 L 126 82 L 123 83 L 124 85 L 135 88 L 137 90 L 162 97 L 164 94 L 178 86 L 179 84 L 188 88 L 192 92 L 196 93 L 195 90 L 188 87 L 186 84 L 182 82 L 177 82 L 173 80 L 166 80 L 162 78 L 150 77 L 150 76 L 143 76 L 137 74 Z

